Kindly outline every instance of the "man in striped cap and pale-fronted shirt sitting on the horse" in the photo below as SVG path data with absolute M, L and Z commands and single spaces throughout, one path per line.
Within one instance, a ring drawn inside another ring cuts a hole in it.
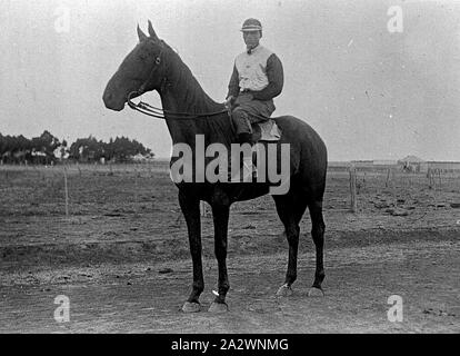
M 251 123 L 268 120 L 274 111 L 273 98 L 283 87 L 282 63 L 277 55 L 259 44 L 262 24 L 243 22 L 246 51 L 237 56 L 226 105 L 231 110 L 239 144 L 251 145 Z M 252 175 L 252 155 L 243 157 L 243 181 Z

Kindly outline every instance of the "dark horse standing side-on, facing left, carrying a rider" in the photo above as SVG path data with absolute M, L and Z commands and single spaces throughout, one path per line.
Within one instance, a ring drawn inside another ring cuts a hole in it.
M 138 26 L 139 43 L 126 57 L 107 85 L 103 102 L 107 108 L 121 111 L 128 98 L 136 92 L 157 90 L 160 95 L 164 119 L 172 142 L 187 144 L 194 155 L 196 137 L 202 135 L 206 145 L 219 142 L 229 148 L 237 142 L 237 135 L 224 112 L 224 105 L 213 101 L 200 87 L 190 69 L 163 40 L 160 40 L 149 21 L 149 36 Z M 181 119 L 178 113 L 183 113 Z M 190 119 L 190 115 L 216 113 L 209 117 Z M 277 212 L 284 225 L 289 244 L 289 261 L 286 283 L 277 295 L 288 296 L 297 278 L 299 246 L 299 222 L 307 207 L 310 211 L 311 235 L 316 245 L 316 274 L 309 296 L 322 296 L 324 279 L 323 241 L 324 221 L 322 199 L 327 174 L 327 149 L 319 135 L 304 121 L 283 116 L 273 118 L 282 131 L 277 145 L 289 144 L 289 190 L 273 195 Z M 178 157 L 172 157 L 171 165 Z M 279 157 L 278 157 L 279 159 Z M 193 161 L 197 161 L 196 155 Z M 279 166 L 278 166 L 279 167 Z M 194 174 L 194 172 L 193 172 Z M 234 201 L 248 200 L 269 192 L 269 185 L 262 182 L 176 182 L 179 188 L 179 204 L 187 221 L 190 253 L 193 261 L 192 291 L 184 303 L 183 312 L 199 312 L 199 297 L 204 289 L 201 261 L 200 200 L 212 208 L 214 224 L 214 253 L 219 266 L 218 296 L 210 312 L 228 310 L 226 295 L 230 288 L 227 275 L 227 234 L 230 206 Z

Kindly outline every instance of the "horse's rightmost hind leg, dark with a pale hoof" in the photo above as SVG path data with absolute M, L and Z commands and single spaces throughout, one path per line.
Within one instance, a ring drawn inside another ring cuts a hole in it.
M 323 246 L 324 246 L 324 220 L 322 217 L 322 200 L 312 201 L 308 205 L 311 217 L 311 236 L 317 249 L 317 268 L 314 271 L 313 286 L 309 296 L 322 296 L 321 284 L 324 279 Z

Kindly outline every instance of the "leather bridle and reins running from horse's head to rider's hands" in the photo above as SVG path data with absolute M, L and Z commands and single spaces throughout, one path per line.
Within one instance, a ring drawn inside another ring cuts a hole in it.
M 143 115 L 147 115 L 147 116 L 150 116 L 157 119 L 163 119 L 163 120 L 166 119 L 194 120 L 194 119 L 202 119 L 202 118 L 208 118 L 211 116 L 222 115 L 224 112 L 229 113 L 228 109 L 221 110 L 221 111 L 214 111 L 214 112 L 206 112 L 206 113 L 178 112 L 178 111 L 170 111 L 170 110 L 164 110 L 162 108 L 153 107 L 143 101 L 140 101 L 138 103 L 132 102 L 131 99 L 133 96 L 140 96 L 146 92 L 147 86 L 149 85 L 153 75 L 156 73 L 156 71 L 158 70 L 159 66 L 162 62 L 163 49 L 164 47 L 161 49 L 160 53 L 158 53 L 157 58 L 154 59 L 153 67 L 147 80 L 140 86 L 138 90 L 131 91 L 128 95 L 127 102 L 131 109 L 137 110 Z M 167 70 L 164 72 L 167 72 Z M 164 73 L 163 78 L 161 78 L 161 86 L 160 86 L 162 91 L 166 89 L 167 83 L 168 83 L 168 78 L 167 78 L 167 75 Z

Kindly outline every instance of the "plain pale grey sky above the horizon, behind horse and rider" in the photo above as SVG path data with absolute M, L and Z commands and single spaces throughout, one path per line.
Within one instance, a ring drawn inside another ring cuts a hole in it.
M 460 160 L 453 0 L 0 0 L 0 132 L 30 138 L 47 129 L 68 141 L 127 136 L 168 157 L 164 121 L 102 102 L 138 42 L 137 24 L 147 32 L 150 19 L 223 102 L 250 17 L 284 68 L 273 116 L 311 125 L 330 160 Z M 156 92 L 142 100 L 160 105 Z

